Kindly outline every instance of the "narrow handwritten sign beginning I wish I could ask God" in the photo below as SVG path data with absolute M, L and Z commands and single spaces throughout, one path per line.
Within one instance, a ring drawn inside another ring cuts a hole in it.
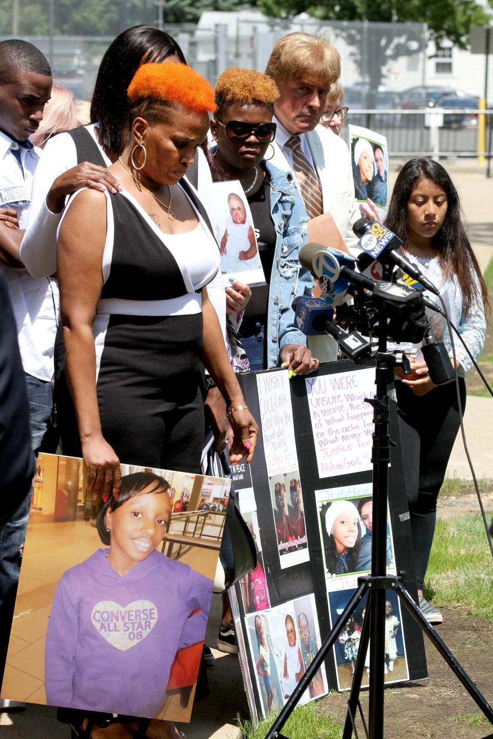
M 299 469 L 288 370 L 256 375 L 267 474 Z

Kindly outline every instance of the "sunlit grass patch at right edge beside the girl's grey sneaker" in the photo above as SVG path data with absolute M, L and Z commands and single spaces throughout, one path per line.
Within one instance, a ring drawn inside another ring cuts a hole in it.
M 424 590 L 435 605 L 493 621 L 493 559 L 480 515 L 437 521 Z

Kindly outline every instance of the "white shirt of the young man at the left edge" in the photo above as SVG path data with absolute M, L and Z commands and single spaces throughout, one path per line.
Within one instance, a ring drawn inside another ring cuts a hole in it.
M 21 161 L 19 163 L 18 154 Z M 33 175 L 40 149 L 26 148 L 0 132 L 0 207 L 15 208 L 21 229 L 30 210 Z M 33 279 L 22 268 L 2 268 L 17 324 L 24 372 L 50 381 L 57 327 L 58 286 L 50 277 Z

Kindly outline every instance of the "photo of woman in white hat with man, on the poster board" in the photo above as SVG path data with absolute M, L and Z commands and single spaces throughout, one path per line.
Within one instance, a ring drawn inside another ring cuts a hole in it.
M 393 551 L 387 512 L 387 567 L 392 568 Z M 319 502 L 319 525 L 326 579 L 370 571 L 372 559 L 373 498 L 365 495 Z

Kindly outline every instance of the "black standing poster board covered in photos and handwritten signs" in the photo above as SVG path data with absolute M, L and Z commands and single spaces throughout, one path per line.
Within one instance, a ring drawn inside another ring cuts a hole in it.
M 259 563 L 230 590 L 245 689 L 256 720 L 285 704 L 294 681 L 301 678 L 300 672 L 347 605 L 358 576 L 370 570 L 370 532 L 363 520 L 371 528 L 373 410 L 364 398 L 374 395 L 375 369 L 338 361 L 322 364 L 310 378 L 288 380 L 286 370 L 275 369 L 239 375 L 239 382 L 261 429 L 251 465 L 233 466 L 239 507 L 251 525 Z M 416 598 L 392 403 L 391 436 L 396 446 L 391 451 L 387 572 L 405 571 L 404 586 Z M 358 518 L 358 556 L 352 562 L 347 558 L 347 567 L 333 565 L 327 544 L 327 520 L 336 518 L 337 508 L 356 511 Z M 421 629 L 401 610 L 395 593 L 387 591 L 387 600 L 392 629 L 396 621 L 398 627 L 395 645 L 386 656 L 386 684 L 426 678 Z M 348 624 L 348 636 L 339 635 L 302 702 L 330 689 L 350 687 L 353 644 L 358 641 L 363 609 L 364 602 Z M 365 670 L 363 686 L 368 682 Z

